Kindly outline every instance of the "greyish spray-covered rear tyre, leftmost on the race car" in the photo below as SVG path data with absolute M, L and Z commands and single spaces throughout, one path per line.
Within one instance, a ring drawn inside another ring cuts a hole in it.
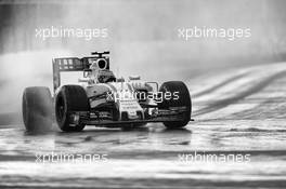
M 22 113 L 27 132 L 43 132 L 52 129 L 52 96 L 48 87 L 31 86 L 24 90 Z

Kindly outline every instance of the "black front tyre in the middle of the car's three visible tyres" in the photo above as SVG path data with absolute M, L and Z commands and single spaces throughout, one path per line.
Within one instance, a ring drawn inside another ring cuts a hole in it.
M 64 132 L 80 132 L 84 124 L 72 124 L 72 111 L 89 111 L 87 93 L 80 85 L 64 85 L 55 97 L 55 119 Z

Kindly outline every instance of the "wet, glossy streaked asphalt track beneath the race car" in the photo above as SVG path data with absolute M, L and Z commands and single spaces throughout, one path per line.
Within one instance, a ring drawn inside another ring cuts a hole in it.
M 286 64 L 203 75 L 187 81 L 185 130 L 148 124 L 82 133 L 0 131 L 0 188 L 286 188 Z M 36 162 L 36 154 L 106 154 L 90 162 Z M 182 154 L 249 154 L 248 162 L 183 161 Z

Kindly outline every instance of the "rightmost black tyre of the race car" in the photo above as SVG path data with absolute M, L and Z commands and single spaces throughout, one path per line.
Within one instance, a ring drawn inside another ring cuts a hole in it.
M 159 92 L 166 94 L 170 92 L 172 94 L 171 99 L 162 97 L 162 102 L 158 103 L 159 109 L 169 109 L 170 107 L 185 107 L 186 112 L 183 114 L 183 121 L 164 122 L 167 129 L 181 129 L 187 125 L 191 120 L 192 113 L 192 100 L 186 85 L 182 81 L 169 81 L 161 84 Z M 178 94 L 174 99 L 173 94 Z

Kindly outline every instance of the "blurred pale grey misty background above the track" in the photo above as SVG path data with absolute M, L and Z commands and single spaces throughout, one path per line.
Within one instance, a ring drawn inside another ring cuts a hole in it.
M 286 58 L 284 0 L 0 0 L 0 124 L 20 122 L 25 86 L 52 85 L 51 59 L 110 51 L 117 76 L 187 81 Z M 36 28 L 107 28 L 108 38 L 36 38 Z M 250 28 L 251 37 L 178 38 L 179 28 Z

